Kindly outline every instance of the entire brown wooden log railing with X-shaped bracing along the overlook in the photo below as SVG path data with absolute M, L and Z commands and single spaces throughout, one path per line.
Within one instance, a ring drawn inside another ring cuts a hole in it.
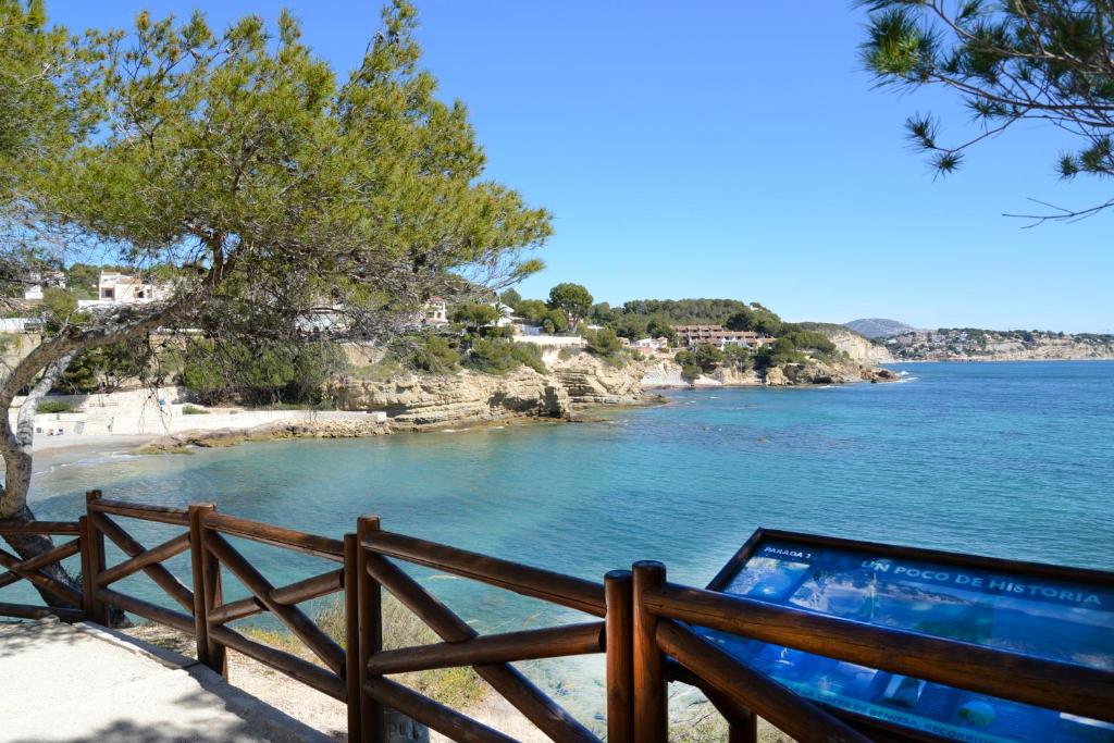
M 157 522 L 183 531 L 147 548 L 121 520 Z M 512 740 L 389 678 L 462 666 L 475 668 L 550 739 L 598 741 L 510 665 L 598 653 L 606 654 L 609 743 L 666 741 L 670 682 L 702 690 L 729 722 L 732 743 L 755 741 L 759 716 L 802 743 L 935 740 L 915 739 L 908 731 L 807 700 L 725 653 L 702 628 L 1114 722 L 1114 673 L 680 586 L 666 580 L 659 563 L 636 563 L 632 570 L 608 573 L 603 583 L 596 583 L 383 531 L 377 517 L 359 519 L 355 532 L 338 540 L 218 514 L 211 504 L 188 509 L 146 506 L 108 500 L 98 491 L 88 493 L 86 515 L 77 522 L 0 521 L 0 536 L 7 534 L 74 537 L 26 560 L 0 550 L 0 563 L 7 568 L 0 575 L 0 588 L 26 579 L 69 606 L 0 603 L 0 615 L 37 618 L 53 614 L 67 622 L 105 622 L 109 607 L 117 607 L 169 625 L 195 635 L 198 659 L 218 673 L 227 674 L 226 649 L 232 648 L 344 702 L 353 741 L 385 740 L 387 708 L 452 740 Z M 106 537 L 125 556 L 113 566 L 106 564 Z M 332 565 L 276 587 L 228 538 Z M 163 565 L 186 551 L 192 558 L 190 586 Z M 42 571 L 78 554 L 81 592 Z M 480 635 L 397 563 L 433 568 L 602 620 Z M 225 600 L 222 566 L 247 589 L 246 597 Z M 111 587 L 139 574 L 166 595 L 163 604 Z M 432 628 L 441 642 L 384 649 L 383 590 Z M 299 608 L 304 602 L 339 593 L 343 593 L 344 647 Z M 264 613 L 303 643 L 314 662 L 228 626 Z

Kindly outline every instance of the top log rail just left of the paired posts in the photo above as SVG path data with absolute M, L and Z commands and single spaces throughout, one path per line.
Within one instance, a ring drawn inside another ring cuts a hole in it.
M 607 613 L 604 586 L 592 580 L 390 531 L 374 531 L 368 535 L 364 537 L 363 547 L 380 555 L 444 570 L 594 616 L 602 617 Z

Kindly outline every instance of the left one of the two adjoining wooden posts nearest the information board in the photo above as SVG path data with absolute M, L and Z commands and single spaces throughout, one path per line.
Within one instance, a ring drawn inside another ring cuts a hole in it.
M 631 571 L 604 576 L 607 649 L 607 741 L 634 743 L 634 648 Z

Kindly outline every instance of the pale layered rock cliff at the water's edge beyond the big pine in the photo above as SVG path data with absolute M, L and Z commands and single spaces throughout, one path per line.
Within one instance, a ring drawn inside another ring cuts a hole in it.
M 342 410 L 381 410 L 394 428 L 424 429 L 514 418 L 568 418 L 593 404 L 642 400 L 642 365 L 616 368 L 585 352 L 547 360 L 540 374 L 404 374 L 387 381 L 344 377 L 330 393 Z

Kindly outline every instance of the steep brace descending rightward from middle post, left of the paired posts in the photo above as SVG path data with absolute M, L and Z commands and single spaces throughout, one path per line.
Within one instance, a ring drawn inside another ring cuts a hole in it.
M 364 544 L 363 539 L 361 544 Z M 477 636 L 476 630 L 468 623 L 437 598 L 430 596 L 424 588 L 418 585 L 417 580 L 403 573 L 398 566 L 368 549 L 362 551 L 365 555 L 365 569 L 407 608 L 417 614 L 433 632 L 440 635 L 441 639 L 453 643 L 472 639 Z M 501 694 L 550 739 L 563 742 L 593 741 L 598 743 L 599 739 L 582 725 L 576 717 L 568 714 L 512 666 L 502 663 L 472 667 L 480 678 L 489 683 L 496 692 Z

